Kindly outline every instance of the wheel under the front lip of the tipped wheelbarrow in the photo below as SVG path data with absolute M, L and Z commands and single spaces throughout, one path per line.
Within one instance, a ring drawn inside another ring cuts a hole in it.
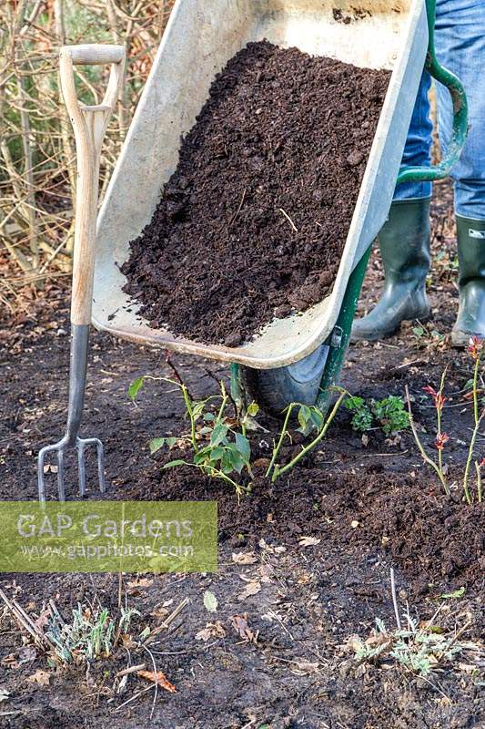
M 281 417 L 290 403 L 316 405 L 320 394 L 328 346 L 321 344 L 307 357 L 272 370 L 241 367 L 241 384 L 248 402 L 255 400 L 263 410 Z

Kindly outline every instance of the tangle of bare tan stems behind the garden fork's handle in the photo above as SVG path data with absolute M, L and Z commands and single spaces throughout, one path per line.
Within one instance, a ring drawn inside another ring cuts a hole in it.
M 125 84 L 101 163 L 105 191 L 174 0 L 0 2 L 0 297 L 70 269 L 76 156 L 59 92 L 60 46 L 126 46 Z M 80 96 L 102 98 L 107 69 L 79 68 Z

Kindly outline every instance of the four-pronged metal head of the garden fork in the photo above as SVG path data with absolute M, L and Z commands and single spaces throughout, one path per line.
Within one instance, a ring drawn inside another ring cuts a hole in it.
M 106 475 L 105 475 L 105 452 L 103 444 L 98 438 L 80 438 L 76 437 L 74 444 L 77 449 L 77 467 L 79 478 L 79 496 L 84 497 L 86 494 L 86 446 L 96 446 L 97 453 L 97 476 L 99 482 L 99 490 L 102 494 L 106 491 Z M 37 483 L 39 490 L 39 501 L 45 501 L 45 456 L 47 453 L 57 454 L 57 492 L 59 501 L 66 501 L 66 488 L 64 478 L 64 456 L 66 451 L 73 447 L 70 438 L 64 437 L 52 446 L 45 446 L 39 451 L 37 457 Z

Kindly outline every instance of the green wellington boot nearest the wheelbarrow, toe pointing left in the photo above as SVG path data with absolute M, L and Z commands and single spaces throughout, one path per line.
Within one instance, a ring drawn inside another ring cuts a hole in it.
M 416 198 L 396 200 L 390 206 L 378 236 L 384 291 L 374 309 L 353 323 L 351 342 L 386 339 L 401 322 L 429 317 L 429 203 L 429 198 Z

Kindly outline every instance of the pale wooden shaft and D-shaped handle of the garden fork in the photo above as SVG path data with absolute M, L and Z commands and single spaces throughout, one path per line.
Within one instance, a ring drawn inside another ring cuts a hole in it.
M 96 215 L 101 147 L 125 69 L 124 46 L 63 46 L 59 76 L 63 98 L 76 137 L 77 186 L 71 322 L 91 323 L 95 274 Z M 105 98 L 96 106 L 80 104 L 74 66 L 111 64 Z

